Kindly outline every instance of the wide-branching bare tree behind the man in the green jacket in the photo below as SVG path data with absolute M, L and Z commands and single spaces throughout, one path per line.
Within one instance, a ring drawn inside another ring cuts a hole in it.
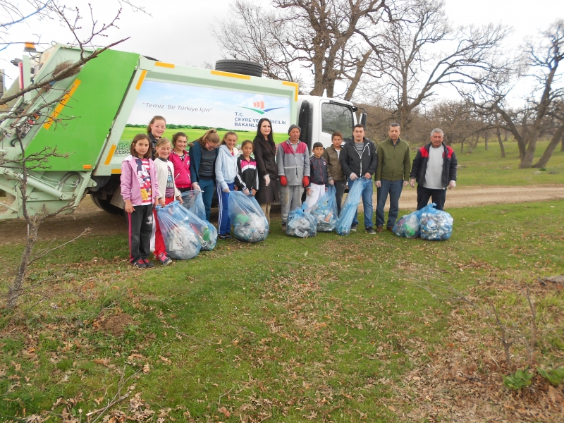
M 412 111 L 437 95 L 442 86 L 460 87 L 488 78 L 496 49 L 508 30 L 501 25 L 460 27 L 448 23 L 442 0 L 410 0 L 393 14 L 374 44 L 372 66 L 381 73 L 374 90 L 389 93 L 402 128 Z

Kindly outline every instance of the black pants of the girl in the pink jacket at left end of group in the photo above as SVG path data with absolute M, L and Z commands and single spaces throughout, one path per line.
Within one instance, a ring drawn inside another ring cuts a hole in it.
M 151 234 L 153 232 L 153 205 L 133 206 L 128 216 L 129 261 L 148 259 L 151 254 Z

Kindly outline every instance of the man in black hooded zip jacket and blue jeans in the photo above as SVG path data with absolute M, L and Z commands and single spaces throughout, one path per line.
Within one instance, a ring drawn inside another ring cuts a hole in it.
M 357 123 L 353 128 L 353 140 L 347 142 L 343 151 L 341 152 L 341 168 L 345 176 L 348 178 L 348 187 L 353 186 L 353 181 L 358 178 L 371 179 L 372 175 L 376 172 L 378 165 L 378 156 L 376 155 L 376 147 L 374 142 L 364 138 L 364 126 L 362 123 Z M 376 233 L 374 231 L 374 224 L 372 223 L 372 183 L 369 183 L 364 190 L 362 190 L 362 205 L 364 206 L 364 228 L 367 233 Z M 353 219 L 353 226 L 350 227 L 351 231 L 356 231 L 358 227 L 357 214 Z

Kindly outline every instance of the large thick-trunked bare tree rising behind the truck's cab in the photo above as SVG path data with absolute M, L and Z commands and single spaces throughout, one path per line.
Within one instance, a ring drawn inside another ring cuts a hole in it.
M 387 3 L 273 0 L 274 8 L 264 8 L 237 0 L 237 24 L 224 23 L 216 38 L 227 56 L 261 63 L 269 78 L 299 82 L 311 95 L 351 99 L 374 51 L 360 33 L 374 31 L 388 14 Z M 337 81 L 345 84 L 341 93 Z

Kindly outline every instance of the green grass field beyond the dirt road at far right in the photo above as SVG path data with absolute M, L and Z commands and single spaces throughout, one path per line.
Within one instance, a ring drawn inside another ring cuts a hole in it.
M 458 164 L 458 185 L 460 187 L 474 185 L 541 185 L 564 182 L 564 152 L 560 145 L 553 152 L 544 170 L 538 168 L 519 168 L 519 149 L 517 142 L 505 142 L 505 157 L 501 158 L 498 142 L 489 142 L 489 149 L 484 149 L 484 142 L 472 150 L 472 154 L 460 154 L 460 145 L 455 145 Z M 535 150 L 535 160 L 541 157 L 548 141 L 539 141 Z M 415 152 L 412 152 L 415 154 Z M 540 172 L 535 174 L 534 172 Z

